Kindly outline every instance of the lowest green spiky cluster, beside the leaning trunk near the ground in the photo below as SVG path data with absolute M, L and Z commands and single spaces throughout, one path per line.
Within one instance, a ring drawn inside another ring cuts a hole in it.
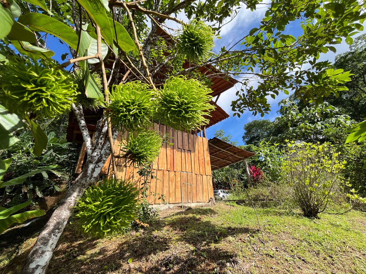
M 138 190 L 128 181 L 108 179 L 89 187 L 75 206 L 83 231 L 99 237 L 128 227 L 138 214 Z

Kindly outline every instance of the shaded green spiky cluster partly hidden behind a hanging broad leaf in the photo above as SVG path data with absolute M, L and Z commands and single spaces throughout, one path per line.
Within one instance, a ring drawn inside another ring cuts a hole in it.
M 72 73 L 74 77 L 75 84 L 78 85 L 78 95 L 76 96 L 76 104 L 81 104 L 84 109 L 97 110 L 100 107 L 105 106 L 105 101 L 103 96 L 99 98 L 88 98 L 85 94 L 85 83 L 84 75 L 81 69 L 75 69 Z M 102 78 L 96 72 L 92 74 L 94 81 L 97 83 L 98 88 L 102 88 Z

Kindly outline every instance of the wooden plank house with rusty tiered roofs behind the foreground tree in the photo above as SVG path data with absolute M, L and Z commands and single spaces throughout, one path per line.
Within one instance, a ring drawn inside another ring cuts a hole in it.
M 165 202 L 174 203 L 195 203 L 208 202 L 213 197 L 212 170 L 216 170 L 227 165 L 242 161 L 254 153 L 232 146 L 217 138 L 208 140 L 205 129 L 229 117 L 216 102 L 221 93 L 233 87 L 236 80 L 220 75 L 213 66 L 202 66 L 202 75 L 209 77 L 212 81 L 213 97 L 216 101 L 212 104 L 216 109 L 211 113 L 209 123 L 197 132 L 180 132 L 172 128 L 154 124 L 154 130 L 160 132 L 161 136 L 170 133 L 172 146 L 163 144 L 160 155 L 153 163 L 153 172 L 156 179 L 152 179 L 149 185 L 152 193 L 164 194 Z M 222 74 L 221 74 L 222 75 Z M 95 125 L 102 113 L 85 113 L 86 123 L 90 133 L 93 134 Z M 76 118 L 70 114 L 68 126 L 68 141 L 82 143 L 82 137 Z M 119 153 L 120 144 L 128 139 L 128 133 L 120 132 L 115 141 L 115 152 Z M 75 173 L 78 174 L 85 161 L 85 148 L 82 147 Z M 142 179 L 138 175 L 138 168 L 126 164 L 126 159 L 119 158 L 117 161 L 117 176 L 132 182 L 135 187 L 139 187 Z M 112 165 L 109 158 L 102 168 L 102 176 L 111 176 Z M 150 196 L 151 204 L 162 203 L 161 199 Z

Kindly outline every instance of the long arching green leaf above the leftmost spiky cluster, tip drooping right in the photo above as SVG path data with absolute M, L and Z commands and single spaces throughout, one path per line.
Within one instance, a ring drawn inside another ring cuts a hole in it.
M 29 26 L 33 31 L 41 31 L 55 35 L 76 50 L 79 40 L 76 31 L 52 17 L 45 14 L 30 12 L 20 16 L 18 22 Z

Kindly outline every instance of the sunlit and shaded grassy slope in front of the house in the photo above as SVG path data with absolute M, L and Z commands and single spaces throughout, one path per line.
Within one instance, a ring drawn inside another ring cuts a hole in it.
M 238 205 L 171 210 L 147 229 L 105 239 L 68 225 L 48 273 L 126 273 L 131 258 L 133 273 L 366 274 L 365 213 L 310 220 L 276 208 L 257 212 L 265 244 L 253 209 Z M 15 256 L 3 253 L 4 273 L 19 271 L 34 240 Z

